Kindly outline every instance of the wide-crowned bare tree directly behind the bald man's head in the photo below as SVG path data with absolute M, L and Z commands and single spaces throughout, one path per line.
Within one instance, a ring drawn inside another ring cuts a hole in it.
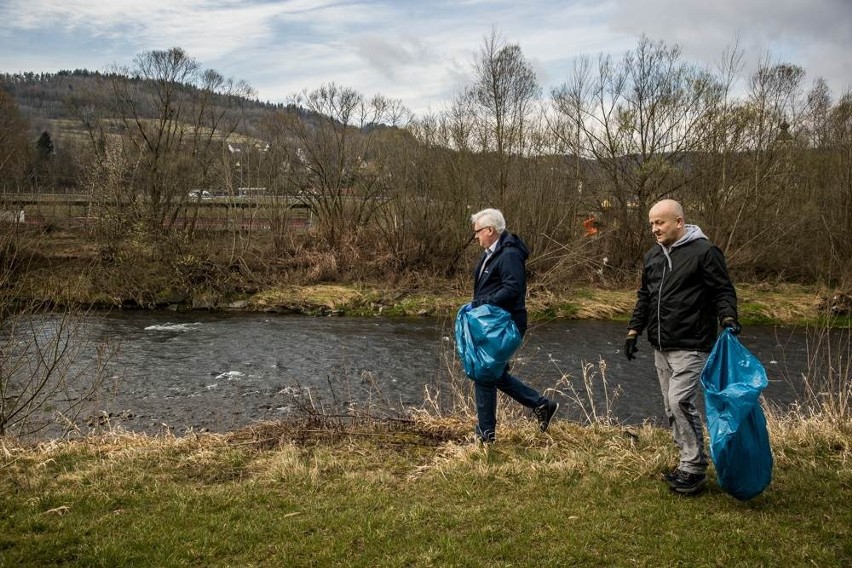
M 646 246 L 647 206 L 675 195 L 703 133 L 710 78 L 681 60 L 680 49 L 643 37 L 620 61 L 578 60 L 553 91 L 556 135 L 578 157 L 594 162 L 597 196 L 616 266 L 631 266 Z

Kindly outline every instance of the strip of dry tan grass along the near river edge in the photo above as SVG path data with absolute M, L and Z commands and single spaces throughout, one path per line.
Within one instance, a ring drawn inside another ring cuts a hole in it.
M 777 466 L 816 467 L 819 462 L 813 456 L 823 455 L 838 476 L 852 481 L 852 423 L 772 413 L 767 420 Z M 119 483 L 128 475 L 169 470 L 171 477 L 183 471 L 204 479 L 204 472 L 223 475 L 236 455 L 236 478 L 257 483 L 304 481 L 330 472 L 414 480 L 483 469 L 491 476 L 515 479 L 547 472 L 638 480 L 655 478 L 676 461 L 669 432 L 649 424 L 626 428 L 562 421 L 542 435 L 534 421 L 504 417 L 504 435 L 493 446 L 473 443 L 468 421 L 424 413 L 407 421 L 314 421 L 310 426 L 305 421 L 268 422 L 231 434 L 183 437 L 116 431 L 35 446 L 6 439 L 0 471 L 8 479 L 26 478 L 32 484 L 47 464 L 72 460 L 74 466 L 52 481 L 38 482 L 54 486 L 113 478 L 109 483 Z M 496 455 L 500 458 L 492 459 Z

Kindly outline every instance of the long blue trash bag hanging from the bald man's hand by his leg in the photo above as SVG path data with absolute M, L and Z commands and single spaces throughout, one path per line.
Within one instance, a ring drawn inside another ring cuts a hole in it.
M 701 372 L 710 455 L 719 486 L 741 501 L 772 481 L 772 450 L 760 393 L 766 370 L 730 330 L 722 331 Z

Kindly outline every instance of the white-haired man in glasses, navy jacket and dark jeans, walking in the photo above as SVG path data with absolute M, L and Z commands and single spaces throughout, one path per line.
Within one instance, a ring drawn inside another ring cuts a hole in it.
M 503 214 L 497 209 L 483 209 L 470 218 L 473 234 L 485 249 L 473 273 L 471 307 L 492 304 L 512 316 L 518 331 L 527 330 L 526 260 L 529 250 L 524 242 L 506 230 Z M 483 443 L 495 439 L 497 428 L 497 389 L 520 404 L 531 408 L 538 419 L 539 430 L 550 425 L 559 404 L 542 396 L 529 385 L 509 374 L 509 365 L 494 383 L 474 383 L 476 394 L 476 436 Z

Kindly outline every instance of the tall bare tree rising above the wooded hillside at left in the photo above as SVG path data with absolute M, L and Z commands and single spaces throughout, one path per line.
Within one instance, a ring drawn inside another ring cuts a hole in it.
M 189 190 L 212 181 L 223 140 L 239 124 L 234 107 L 252 90 L 203 70 L 178 47 L 142 53 L 132 67 L 113 71 L 114 117 L 81 116 L 100 159 L 95 170 L 105 175 L 121 168 L 110 175 L 123 180 L 114 189 L 124 197 L 109 195 L 101 203 L 119 207 L 125 227 L 139 223 L 148 235 L 160 235 L 175 223 Z M 121 143 L 111 142 L 116 130 Z M 97 180 L 90 183 L 97 193 Z

